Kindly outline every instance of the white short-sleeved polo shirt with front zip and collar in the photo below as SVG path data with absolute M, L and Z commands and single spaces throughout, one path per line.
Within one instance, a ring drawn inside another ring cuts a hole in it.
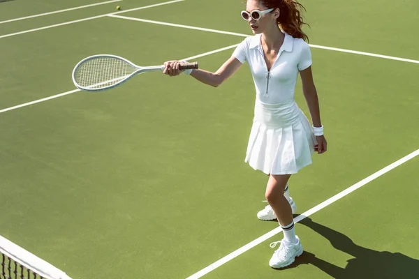
M 310 47 L 304 40 L 285 33 L 277 60 L 268 71 L 260 36 L 245 38 L 233 56 L 241 63 L 249 63 L 256 87 L 256 100 L 267 104 L 288 102 L 294 98 L 299 70 L 311 66 Z

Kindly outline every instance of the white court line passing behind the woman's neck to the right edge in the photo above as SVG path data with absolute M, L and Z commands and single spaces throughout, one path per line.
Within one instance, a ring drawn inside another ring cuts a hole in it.
M 125 17 L 125 16 L 121 16 L 121 15 L 111 15 L 111 14 L 108 15 L 108 16 L 109 17 L 118 17 L 118 18 L 121 18 L 121 19 L 124 19 L 124 20 L 135 20 L 137 22 L 147 22 L 147 23 L 152 23 L 152 24 L 166 25 L 166 26 L 170 26 L 170 27 L 180 27 L 180 28 L 186 28 L 186 29 L 207 31 L 207 32 L 212 32 L 212 33 L 221 33 L 221 34 L 227 34 L 227 35 L 233 35 L 233 36 L 240 36 L 240 37 L 251 36 L 251 35 L 247 35 L 247 34 L 221 31 L 221 30 L 216 30 L 216 29 L 192 27 L 192 26 L 188 26 L 188 25 L 174 24 L 174 23 L 169 23 L 169 22 L 157 22 L 155 20 L 144 20 L 142 18 L 136 18 L 136 17 Z M 381 55 L 381 54 L 375 54 L 375 53 L 370 53 L 370 52 L 358 52 L 356 50 L 345 50 L 343 48 L 337 48 L 337 47 L 325 47 L 323 45 L 311 45 L 311 44 L 309 44 L 309 46 L 313 47 L 313 48 L 320 48 L 320 49 L 323 49 L 323 50 L 334 50 L 335 52 L 347 52 L 347 53 L 352 53 L 352 54 L 360 54 L 360 55 L 365 55 L 365 56 L 373 56 L 373 57 L 379 57 L 379 58 L 383 58 L 383 59 L 390 59 L 390 60 L 397 60 L 397 61 L 404 61 L 404 62 L 418 63 L 419 64 L 418 60 L 405 59 L 405 58 L 400 58 L 400 57 L 395 57 L 395 56 Z

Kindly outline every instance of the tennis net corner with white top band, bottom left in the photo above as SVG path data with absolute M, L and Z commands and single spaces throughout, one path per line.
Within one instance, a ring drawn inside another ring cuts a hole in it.
M 0 236 L 0 279 L 71 279 L 63 271 Z

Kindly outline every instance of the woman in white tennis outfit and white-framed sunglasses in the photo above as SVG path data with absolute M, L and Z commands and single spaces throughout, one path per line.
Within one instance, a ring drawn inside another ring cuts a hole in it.
M 311 73 L 311 52 L 302 31 L 302 8 L 293 0 L 248 0 L 242 17 L 255 36 L 244 39 L 216 73 L 200 69 L 185 71 L 196 80 L 216 87 L 242 63 L 249 63 L 256 86 L 256 103 L 245 162 L 269 175 L 265 193 L 269 205 L 258 213 L 258 218 L 277 218 L 284 231 L 284 239 L 272 243 L 281 243 L 270 259 L 273 268 L 288 266 L 302 254 L 300 239 L 295 235 L 291 207 L 295 209 L 295 204 L 289 197 L 288 179 L 311 164 L 314 151 L 327 150 Z M 179 75 L 179 63 L 166 62 L 163 73 Z M 313 128 L 294 101 L 298 73 Z

